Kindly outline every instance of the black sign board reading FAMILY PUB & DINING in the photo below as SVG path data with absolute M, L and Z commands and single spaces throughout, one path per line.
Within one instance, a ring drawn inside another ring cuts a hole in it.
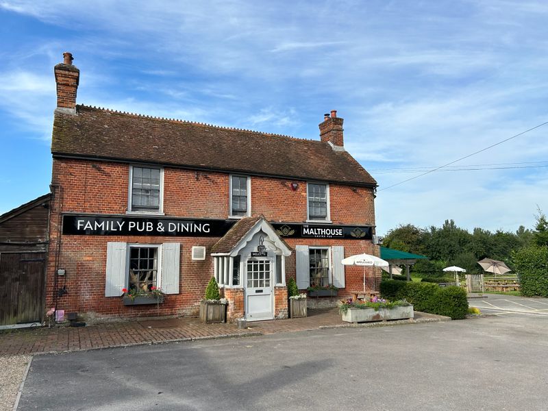
M 234 220 L 65 214 L 63 234 L 85 236 L 222 237 Z

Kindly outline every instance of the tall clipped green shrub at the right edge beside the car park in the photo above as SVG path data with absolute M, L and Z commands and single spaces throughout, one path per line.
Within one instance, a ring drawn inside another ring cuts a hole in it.
M 548 297 L 548 247 L 524 247 L 512 253 L 521 295 Z

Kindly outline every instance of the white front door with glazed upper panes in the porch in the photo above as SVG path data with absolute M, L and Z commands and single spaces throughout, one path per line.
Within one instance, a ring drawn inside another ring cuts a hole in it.
M 273 263 L 268 258 L 250 258 L 246 263 L 245 318 L 247 321 L 274 318 Z

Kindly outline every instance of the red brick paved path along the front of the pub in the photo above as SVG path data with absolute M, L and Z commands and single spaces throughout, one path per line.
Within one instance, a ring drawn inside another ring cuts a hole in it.
M 444 321 L 446 317 L 415 312 L 413 322 Z M 409 320 L 399 323 L 409 323 Z M 390 322 L 388 324 L 394 324 Z M 236 324 L 203 324 L 197 318 L 160 319 L 103 323 L 88 327 L 40 327 L 0 332 L 0 356 L 123 347 L 127 345 L 296 332 L 320 327 L 350 326 L 340 319 L 338 310 L 309 310 L 302 319 L 258 321 Z M 372 323 L 369 323 L 372 325 Z M 373 324 L 376 325 L 376 324 Z M 384 324 L 386 325 L 386 323 Z

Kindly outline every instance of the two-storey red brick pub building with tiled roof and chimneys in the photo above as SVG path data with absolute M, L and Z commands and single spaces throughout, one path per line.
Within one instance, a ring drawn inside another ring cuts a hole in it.
M 196 315 L 215 277 L 229 321 L 284 319 L 286 281 L 364 288 L 357 253 L 378 256 L 375 180 L 345 150 L 336 111 L 320 139 L 76 104 L 70 53 L 55 66 L 47 308 L 88 319 Z M 366 288 L 379 284 L 366 269 Z M 165 292 L 125 306 L 123 289 Z

